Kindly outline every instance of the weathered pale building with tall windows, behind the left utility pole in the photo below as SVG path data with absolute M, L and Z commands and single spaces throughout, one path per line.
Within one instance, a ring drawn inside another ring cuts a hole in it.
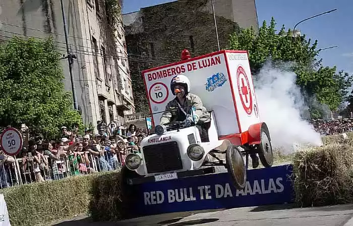
M 108 0 L 63 2 L 68 43 L 77 58 L 73 74 L 83 122 L 95 127 L 98 120 L 116 121 L 124 126 L 125 115 L 133 114 L 135 106 L 121 14 L 113 15 L 116 23 L 111 22 Z M 39 39 L 50 35 L 58 51 L 67 54 L 60 1 L 2 0 L 0 7 L 0 41 L 14 35 Z M 62 65 L 65 89 L 71 91 L 68 61 L 63 59 Z

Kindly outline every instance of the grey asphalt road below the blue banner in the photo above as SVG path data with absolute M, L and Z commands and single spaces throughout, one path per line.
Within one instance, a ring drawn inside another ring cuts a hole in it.
M 293 208 L 292 205 L 270 205 L 223 210 L 167 213 L 117 222 L 92 222 L 87 216 L 77 216 L 55 226 L 343 226 L 353 217 L 353 204 L 328 207 Z M 349 224 L 349 222 L 348 222 Z M 353 224 L 349 224 L 350 226 Z

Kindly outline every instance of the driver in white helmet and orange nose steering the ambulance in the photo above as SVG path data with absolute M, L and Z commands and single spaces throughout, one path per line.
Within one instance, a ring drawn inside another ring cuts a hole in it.
M 160 124 L 169 122 L 184 122 L 184 127 L 194 125 L 200 132 L 201 142 L 208 142 L 208 129 L 211 125 L 211 117 L 202 105 L 200 97 L 190 93 L 190 81 L 185 75 L 177 75 L 170 82 L 170 89 L 176 97 L 165 107 L 160 118 Z M 179 108 L 179 109 L 177 109 Z M 191 112 L 193 110 L 193 113 Z M 193 120 L 194 116 L 194 120 Z

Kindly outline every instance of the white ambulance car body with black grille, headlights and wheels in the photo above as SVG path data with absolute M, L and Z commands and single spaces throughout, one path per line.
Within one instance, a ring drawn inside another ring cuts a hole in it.
M 209 142 L 201 142 L 196 126 L 184 127 L 182 122 L 155 126 L 154 134 L 141 141 L 141 154 L 127 155 L 122 174 L 126 183 L 172 180 L 219 173 L 217 171 L 223 169 L 230 174 L 236 189 L 244 189 L 250 154 L 258 154 L 263 166 L 272 165 L 272 146 L 265 123 L 254 125 L 260 132 L 259 144 L 234 145 L 234 141 L 218 139 L 214 112 L 209 112 Z M 254 129 L 250 128 L 249 133 L 252 131 Z

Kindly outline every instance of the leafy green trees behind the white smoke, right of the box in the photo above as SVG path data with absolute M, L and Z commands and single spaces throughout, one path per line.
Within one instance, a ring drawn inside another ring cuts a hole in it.
M 320 49 L 317 40 L 311 44 L 306 36 L 293 38 L 284 25 L 276 34 L 276 23 L 272 18 L 267 26 L 266 21 L 255 34 L 253 28 L 242 29 L 239 34 L 233 33 L 229 38 L 229 48 L 234 50 L 246 49 L 252 73 L 260 71 L 265 62 L 271 58 L 272 62 L 293 62 L 290 70 L 297 74 L 297 84 L 309 96 L 316 95 L 320 103 L 326 104 L 331 110 L 337 109 L 346 98 L 347 89 L 352 84 L 352 75 L 343 71 L 336 72 L 336 67 L 324 67 L 322 60 L 317 60 Z M 315 117 L 317 117 L 318 111 Z

